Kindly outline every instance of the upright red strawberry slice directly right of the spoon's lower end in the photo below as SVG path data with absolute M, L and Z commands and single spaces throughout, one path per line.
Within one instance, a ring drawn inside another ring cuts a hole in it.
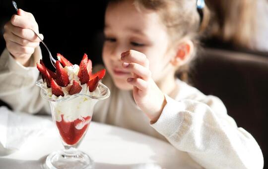
M 56 75 L 56 82 L 60 86 L 65 87 L 70 83 L 67 71 L 63 68 L 59 60 L 56 61 Z

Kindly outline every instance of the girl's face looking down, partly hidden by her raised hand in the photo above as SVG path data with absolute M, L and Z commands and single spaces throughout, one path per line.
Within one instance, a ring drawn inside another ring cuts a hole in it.
M 127 83 L 127 78 L 133 75 L 123 70 L 120 59 L 121 53 L 129 49 L 146 55 L 152 79 L 156 83 L 166 76 L 164 68 L 169 62 L 169 36 L 155 11 L 138 11 L 132 0 L 109 4 L 104 34 L 103 61 L 117 87 L 125 90 L 133 88 Z

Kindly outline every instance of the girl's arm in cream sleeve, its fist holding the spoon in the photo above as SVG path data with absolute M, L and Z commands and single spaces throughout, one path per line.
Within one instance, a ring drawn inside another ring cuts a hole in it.
M 34 16 L 21 9 L 4 25 L 6 49 L 0 56 L 0 99 L 16 111 L 36 113 L 44 106 L 39 88 L 36 63 L 41 51 Z M 39 34 L 43 38 L 42 34 Z

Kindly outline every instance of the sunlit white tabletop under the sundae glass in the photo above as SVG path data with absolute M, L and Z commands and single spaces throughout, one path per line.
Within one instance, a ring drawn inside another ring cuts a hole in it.
M 47 155 L 63 148 L 56 127 L 50 130 L 50 134 L 28 141 L 19 151 L 0 157 L 0 169 L 42 169 Z M 169 143 L 95 122 L 91 122 L 78 149 L 94 160 L 96 169 L 199 168 L 186 164 L 184 152 Z

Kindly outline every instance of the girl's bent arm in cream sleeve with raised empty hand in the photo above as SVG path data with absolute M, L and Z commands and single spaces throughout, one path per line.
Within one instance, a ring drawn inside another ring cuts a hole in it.
M 127 81 L 134 86 L 136 104 L 151 120 L 152 127 L 173 146 L 187 152 L 206 169 L 263 168 L 258 143 L 250 133 L 237 127 L 218 98 L 195 91 L 191 99 L 173 100 L 152 80 L 144 54 L 132 50 L 121 56 L 124 69 L 134 74 Z M 187 88 L 180 90 L 188 92 Z

